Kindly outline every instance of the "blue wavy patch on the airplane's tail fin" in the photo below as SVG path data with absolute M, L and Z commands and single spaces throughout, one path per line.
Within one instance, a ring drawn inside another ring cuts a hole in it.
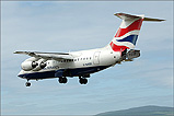
M 137 38 L 138 38 L 138 35 L 129 35 L 123 39 L 116 39 L 117 42 L 130 42 L 132 43 L 134 45 L 136 45 L 136 42 L 137 42 Z

